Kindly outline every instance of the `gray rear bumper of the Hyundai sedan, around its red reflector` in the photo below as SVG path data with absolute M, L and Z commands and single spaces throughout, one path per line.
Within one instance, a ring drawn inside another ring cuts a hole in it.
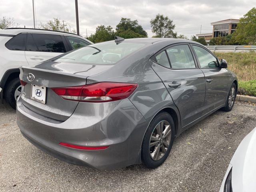
M 97 169 L 115 169 L 139 164 L 141 142 L 146 130 L 144 117 L 130 100 L 79 103 L 64 122 L 54 122 L 30 112 L 18 99 L 17 124 L 27 140 L 44 152 L 72 164 Z M 104 150 L 79 150 L 59 145 L 109 146 Z

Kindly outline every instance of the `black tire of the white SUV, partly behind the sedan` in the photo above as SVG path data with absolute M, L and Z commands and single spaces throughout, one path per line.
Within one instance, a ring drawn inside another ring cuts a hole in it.
M 6 102 L 15 110 L 16 100 L 14 97 L 15 90 L 20 86 L 20 79 L 15 78 L 11 80 L 4 88 L 4 98 Z

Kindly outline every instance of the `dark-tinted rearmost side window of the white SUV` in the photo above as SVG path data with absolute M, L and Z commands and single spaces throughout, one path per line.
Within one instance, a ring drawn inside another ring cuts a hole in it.
M 6 44 L 6 48 L 16 51 L 24 51 L 26 46 L 26 33 L 20 33 L 11 38 Z

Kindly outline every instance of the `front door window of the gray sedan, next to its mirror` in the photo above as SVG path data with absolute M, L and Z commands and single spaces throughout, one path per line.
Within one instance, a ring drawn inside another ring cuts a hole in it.
M 202 47 L 192 45 L 194 52 L 199 60 L 201 68 L 217 68 L 218 61 L 217 59 L 210 54 L 207 50 Z

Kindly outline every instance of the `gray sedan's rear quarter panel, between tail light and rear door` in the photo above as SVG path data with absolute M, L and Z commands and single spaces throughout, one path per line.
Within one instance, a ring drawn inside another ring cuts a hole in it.
M 149 50 L 141 50 L 121 63 L 116 64 L 110 70 L 89 76 L 86 80 L 86 84 L 96 82 L 128 82 L 138 84 L 138 88 L 129 99 L 146 119 L 146 125 L 139 133 L 141 138 L 139 141 L 140 145 L 148 124 L 160 110 L 172 108 L 180 117 L 178 109 L 174 105 L 162 80 L 148 63 L 152 54 L 150 54 Z M 180 118 L 178 119 L 178 124 L 180 125 Z

